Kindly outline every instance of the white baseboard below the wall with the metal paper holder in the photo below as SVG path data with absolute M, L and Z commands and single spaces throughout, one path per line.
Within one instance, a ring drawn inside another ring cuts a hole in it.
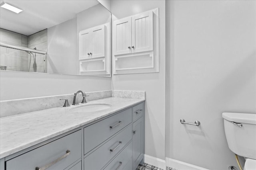
M 179 160 L 175 160 L 171 158 L 166 158 L 166 166 L 169 166 L 177 170 L 208 170 L 200 166 L 195 166 L 195 165 L 188 164 L 186 162 L 181 162 Z

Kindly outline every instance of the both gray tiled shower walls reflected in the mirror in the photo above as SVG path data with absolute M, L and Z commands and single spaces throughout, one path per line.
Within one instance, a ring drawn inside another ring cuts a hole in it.
M 26 36 L 6 29 L 0 29 L 0 41 L 12 45 L 20 45 L 28 48 L 35 48 L 47 51 L 47 30 Z M 35 55 L 35 53 L 33 53 Z M 32 55 L 31 55 L 32 56 Z M 44 55 L 36 53 L 36 72 L 44 72 Z M 0 69 L 11 71 L 30 71 L 34 72 L 34 59 L 22 50 L 0 47 Z

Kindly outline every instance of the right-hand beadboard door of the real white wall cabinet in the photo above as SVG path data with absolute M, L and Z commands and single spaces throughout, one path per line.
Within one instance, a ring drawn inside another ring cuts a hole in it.
M 153 50 L 153 12 L 132 17 L 132 53 Z

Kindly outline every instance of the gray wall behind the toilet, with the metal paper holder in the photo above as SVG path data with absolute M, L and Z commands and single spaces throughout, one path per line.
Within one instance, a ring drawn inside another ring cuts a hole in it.
M 166 157 L 238 168 L 222 112 L 256 113 L 255 7 L 256 1 L 166 1 Z M 182 125 L 181 118 L 201 125 Z

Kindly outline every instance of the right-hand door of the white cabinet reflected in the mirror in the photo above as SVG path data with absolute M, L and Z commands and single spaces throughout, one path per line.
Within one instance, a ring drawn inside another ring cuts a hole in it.
M 92 53 L 91 57 L 105 57 L 105 25 L 93 27 L 90 33 L 92 49 L 89 53 Z

